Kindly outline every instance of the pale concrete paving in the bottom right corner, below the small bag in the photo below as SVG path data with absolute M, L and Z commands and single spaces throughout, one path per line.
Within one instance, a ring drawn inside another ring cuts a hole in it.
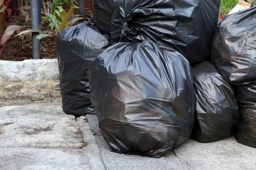
M 233 136 L 206 144 L 189 139 L 174 151 L 191 170 L 256 170 L 256 148 L 239 144 Z

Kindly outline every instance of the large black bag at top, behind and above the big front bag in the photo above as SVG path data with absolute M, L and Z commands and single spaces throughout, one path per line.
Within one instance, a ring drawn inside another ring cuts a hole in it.
M 190 63 L 210 59 L 220 0 L 111 0 L 112 42 L 151 40 Z

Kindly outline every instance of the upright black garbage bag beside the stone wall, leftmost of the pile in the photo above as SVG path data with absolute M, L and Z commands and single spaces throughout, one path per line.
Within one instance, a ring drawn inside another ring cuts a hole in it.
M 100 34 L 90 22 L 66 27 L 58 34 L 56 48 L 65 113 L 75 116 L 93 113 L 87 71 L 109 45 L 110 37 Z

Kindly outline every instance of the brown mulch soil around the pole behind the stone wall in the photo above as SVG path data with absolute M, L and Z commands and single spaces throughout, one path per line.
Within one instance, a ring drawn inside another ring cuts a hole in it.
M 21 31 L 31 28 L 30 20 L 26 22 L 25 17 L 14 16 L 9 22 L 9 25 L 18 25 L 22 28 L 15 31 L 14 35 L 17 35 Z M 49 30 L 46 26 L 42 26 L 42 31 Z M 2 49 L 2 47 L 0 47 Z M 42 59 L 54 59 L 56 58 L 56 48 L 54 37 L 45 37 L 40 40 L 40 51 Z M 0 60 L 10 61 L 22 61 L 24 59 L 32 59 L 32 39 L 31 34 L 23 34 L 19 37 L 15 37 L 3 48 L 2 54 L 0 54 Z

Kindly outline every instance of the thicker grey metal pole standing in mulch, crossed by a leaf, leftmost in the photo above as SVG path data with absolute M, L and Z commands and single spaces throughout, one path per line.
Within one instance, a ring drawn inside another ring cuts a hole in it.
M 38 16 L 38 0 L 30 1 L 30 9 L 31 9 L 31 28 L 39 29 L 39 16 Z M 41 11 L 41 8 L 40 8 Z M 40 43 L 36 42 L 36 36 L 39 35 L 37 32 L 32 32 L 32 51 L 33 51 L 33 59 L 40 59 Z

